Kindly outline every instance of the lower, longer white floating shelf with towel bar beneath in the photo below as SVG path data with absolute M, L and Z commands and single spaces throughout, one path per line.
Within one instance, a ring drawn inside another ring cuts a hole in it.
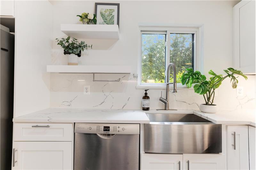
M 130 74 L 130 66 L 113 65 L 47 65 L 51 73 L 124 73 Z

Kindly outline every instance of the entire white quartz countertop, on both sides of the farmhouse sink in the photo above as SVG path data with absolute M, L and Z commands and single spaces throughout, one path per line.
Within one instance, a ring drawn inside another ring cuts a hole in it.
M 255 127 L 255 110 L 219 110 L 204 113 L 199 110 L 126 110 L 126 109 L 79 109 L 48 108 L 13 118 L 13 122 L 86 122 L 86 123 L 149 123 L 146 113 L 195 114 L 217 124 L 251 125 Z

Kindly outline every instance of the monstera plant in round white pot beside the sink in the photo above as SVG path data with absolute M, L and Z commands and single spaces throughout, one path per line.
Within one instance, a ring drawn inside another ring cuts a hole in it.
M 192 87 L 194 84 L 194 91 L 198 94 L 204 96 L 204 104 L 199 106 L 199 109 L 205 113 L 216 113 L 218 111 L 218 106 L 214 105 L 214 95 L 215 90 L 220 87 L 221 82 L 225 78 L 230 78 L 231 85 L 234 88 L 237 87 L 238 80 L 236 75 L 243 76 L 246 80 L 247 77 L 239 70 L 235 70 L 233 68 L 228 68 L 224 70 L 227 73 L 227 76 L 217 75 L 212 70 L 208 73 L 212 75 L 210 80 L 206 80 L 206 77 L 200 73 L 200 71 L 193 71 L 192 68 L 186 69 L 184 74 L 181 77 L 182 85 L 186 85 L 188 88 Z

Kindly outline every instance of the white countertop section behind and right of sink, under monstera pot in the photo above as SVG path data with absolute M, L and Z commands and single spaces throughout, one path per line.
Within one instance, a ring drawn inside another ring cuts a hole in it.
M 195 114 L 216 124 L 251 125 L 255 127 L 255 110 L 219 110 L 217 113 L 204 113 L 199 110 L 149 110 L 145 113 Z

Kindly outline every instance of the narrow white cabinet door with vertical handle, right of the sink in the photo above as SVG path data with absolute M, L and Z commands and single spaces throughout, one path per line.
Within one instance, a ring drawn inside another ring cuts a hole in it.
M 227 126 L 228 169 L 249 169 L 248 126 Z

